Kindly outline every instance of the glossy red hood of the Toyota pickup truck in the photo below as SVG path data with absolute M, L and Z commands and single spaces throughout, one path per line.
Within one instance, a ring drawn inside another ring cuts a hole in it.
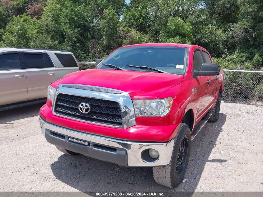
M 59 84 L 82 84 L 128 92 L 132 99 L 156 99 L 183 81 L 183 75 L 166 73 L 88 69 L 70 73 Z

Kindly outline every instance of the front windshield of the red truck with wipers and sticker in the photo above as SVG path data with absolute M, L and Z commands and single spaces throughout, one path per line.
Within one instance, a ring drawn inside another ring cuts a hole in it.
M 128 67 L 148 66 L 167 73 L 184 74 L 186 71 L 188 48 L 172 46 L 134 46 L 115 50 L 97 68 L 116 69 L 103 64 L 112 64 L 126 70 L 157 72 L 154 70 Z M 103 64 L 102 64 L 103 63 Z

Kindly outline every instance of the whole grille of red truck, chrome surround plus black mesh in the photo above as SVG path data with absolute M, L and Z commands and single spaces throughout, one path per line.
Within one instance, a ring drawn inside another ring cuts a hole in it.
M 91 110 L 82 113 L 79 109 L 81 103 L 88 104 Z M 71 120 L 119 129 L 136 125 L 129 94 L 105 87 L 60 84 L 52 101 L 52 113 Z

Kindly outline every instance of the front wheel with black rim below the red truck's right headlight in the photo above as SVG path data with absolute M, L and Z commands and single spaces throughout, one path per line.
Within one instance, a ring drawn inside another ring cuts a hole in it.
M 154 180 L 164 186 L 175 188 L 183 180 L 191 149 L 191 132 L 187 124 L 181 123 L 175 137 L 171 161 L 167 166 L 153 167 Z

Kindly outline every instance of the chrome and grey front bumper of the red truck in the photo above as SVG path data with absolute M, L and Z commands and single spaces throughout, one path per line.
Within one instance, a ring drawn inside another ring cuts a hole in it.
M 39 119 L 41 131 L 49 143 L 88 157 L 129 167 L 165 166 L 171 160 L 174 139 L 167 143 L 129 142 L 63 128 L 51 124 L 41 117 Z M 69 140 L 69 138 L 73 138 L 75 141 Z M 77 143 L 76 140 L 87 142 L 88 145 Z M 142 159 L 142 152 L 149 148 L 159 152 L 159 158 L 154 162 Z

